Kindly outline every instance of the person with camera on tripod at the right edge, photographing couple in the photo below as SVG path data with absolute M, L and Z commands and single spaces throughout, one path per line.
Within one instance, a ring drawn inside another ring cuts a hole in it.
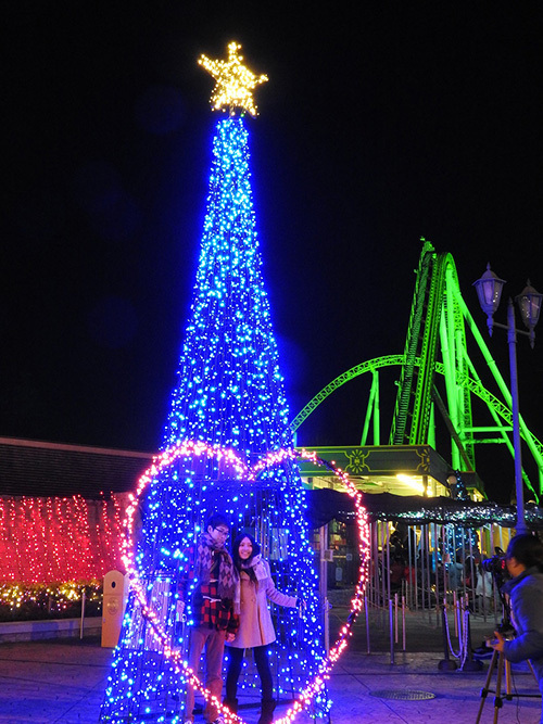
M 517 635 L 505 640 L 496 631 L 496 643 L 490 646 L 513 663 L 529 659 L 543 695 L 543 543 L 534 535 L 516 535 L 507 546 L 505 564 L 513 577 L 502 592 L 509 596 Z

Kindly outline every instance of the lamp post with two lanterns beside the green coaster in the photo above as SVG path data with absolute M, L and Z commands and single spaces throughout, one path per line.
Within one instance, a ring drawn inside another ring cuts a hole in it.
M 489 334 L 492 336 L 494 327 L 507 330 L 507 342 L 509 344 L 509 370 L 510 370 L 510 395 L 512 395 L 512 416 L 513 416 L 513 446 L 515 452 L 515 491 L 517 495 L 517 534 L 528 533 L 525 517 L 525 492 L 522 487 L 522 456 L 520 449 L 520 416 L 518 410 L 518 377 L 517 377 L 517 334 L 526 334 L 530 338 L 530 346 L 533 350 L 535 341 L 535 332 L 533 331 L 539 321 L 541 312 L 541 301 L 543 294 L 536 292 L 530 285 L 528 280 L 527 285 L 521 293 L 516 297 L 519 306 L 520 316 L 528 332 L 517 330 L 515 326 L 515 307 L 513 300 L 509 297 L 507 303 L 507 325 L 501 325 L 494 321 L 494 313 L 500 306 L 500 299 L 502 290 L 505 284 L 503 279 L 500 279 L 487 265 L 487 271 L 480 279 L 473 282 L 479 296 L 479 304 L 487 315 L 487 325 Z

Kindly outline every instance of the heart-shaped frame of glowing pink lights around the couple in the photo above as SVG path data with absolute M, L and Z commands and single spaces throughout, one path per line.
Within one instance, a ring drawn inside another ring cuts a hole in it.
M 352 635 L 352 625 L 356 615 L 364 606 L 364 590 L 367 580 L 367 570 L 369 561 L 369 526 L 367 521 L 366 509 L 362 505 L 361 493 L 355 488 L 354 484 L 349 479 L 349 475 L 337 468 L 333 462 L 328 462 L 317 457 L 316 453 L 310 450 L 294 448 L 287 448 L 268 453 L 256 462 L 256 465 L 249 468 L 241 458 L 231 449 L 225 449 L 217 445 L 209 445 L 204 442 L 184 441 L 177 445 L 168 447 L 163 453 L 153 458 L 153 462 L 148 470 L 141 475 L 135 494 L 130 494 L 130 503 L 126 509 L 126 517 L 124 520 L 125 535 L 122 543 L 122 560 L 125 564 L 126 571 L 129 575 L 130 586 L 135 592 L 137 600 L 141 607 L 141 613 L 149 622 L 151 631 L 156 640 L 162 645 L 164 656 L 171 661 L 174 671 L 178 674 L 189 686 L 200 691 L 206 701 L 211 701 L 223 713 L 226 724 L 244 724 L 243 720 L 233 714 L 228 707 L 225 707 L 214 697 L 209 689 L 202 684 L 200 678 L 195 675 L 185 661 L 181 661 L 181 655 L 178 650 L 173 650 L 171 647 L 169 636 L 164 631 L 156 613 L 149 608 L 144 592 L 144 585 L 141 581 L 138 567 L 135 560 L 135 545 L 134 545 L 134 522 L 138 508 L 138 503 L 142 493 L 154 480 L 162 470 L 169 468 L 176 460 L 182 457 L 202 457 L 216 458 L 231 465 L 239 477 L 247 481 L 255 481 L 257 475 L 264 470 L 269 470 L 280 465 L 283 460 L 304 459 L 310 460 L 315 465 L 324 466 L 338 478 L 343 485 L 345 485 L 349 495 L 353 498 L 356 511 L 356 523 L 358 528 L 358 550 L 361 554 L 361 568 L 358 582 L 351 600 L 351 610 L 346 622 L 340 630 L 339 638 L 330 649 L 328 657 L 324 658 L 319 664 L 318 671 L 313 677 L 313 681 L 307 684 L 305 689 L 301 691 L 298 699 L 290 707 L 283 716 L 274 720 L 274 724 L 291 724 L 298 714 L 306 709 L 313 701 L 318 691 L 323 690 L 326 679 L 329 677 L 333 664 L 338 661 L 344 649 L 346 648 L 348 639 Z

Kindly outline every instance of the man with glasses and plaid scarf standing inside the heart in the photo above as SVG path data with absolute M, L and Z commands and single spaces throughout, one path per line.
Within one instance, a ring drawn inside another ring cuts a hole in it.
M 190 631 L 189 666 L 198 674 L 200 657 L 205 648 L 205 686 L 220 700 L 223 690 L 223 656 L 225 642 L 233 640 L 239 615 L 233 612 L 235 571 L 225 543 L 230 532 L 226 518 L 215 513 L 198 542 L 194 573 L 197 587 L 192 598 L 194 626 Z M 185 724 L 194 721 L 194 689 L 187 687 Z M 217 708 L 207 702 L 205 721 L 219 724 Z

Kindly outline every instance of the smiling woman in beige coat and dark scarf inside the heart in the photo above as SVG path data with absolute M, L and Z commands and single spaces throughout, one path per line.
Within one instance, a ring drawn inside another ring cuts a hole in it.
M 240 613 L 240 627 L 236 638 L 229 644 L 230 660 L 226 676 L 225 704 L 231 712 L 237 713 L 236 695 L 243 652 L 251 648 L 262 686 L 262 711 L 258 724 L 272 724 L 275 700 L 268 648 L 276 636 L 267 599 L 289 608 L 295 608 L 299 600 L 294 596 L 287 596 L 277 590 L 269 573 L 268 562 L 260 554 L 260 545 L 248 533 L 242 533 L 233 542 L 232 560 L 239 574 L 233 606 Z

